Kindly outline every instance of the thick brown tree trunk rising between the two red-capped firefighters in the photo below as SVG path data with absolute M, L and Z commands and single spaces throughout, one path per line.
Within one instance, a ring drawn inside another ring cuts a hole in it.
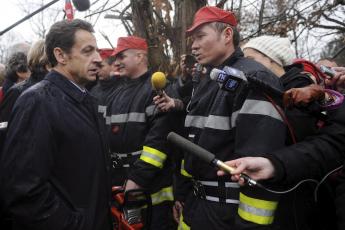
M 147 39 L 151 69 L 171 72 L 171 61 L 177 64 L 181 54 L 190 53 L 186 30 L 195 12 L 205 6 L 207 0 L 175 0 L 173 25 L 162 18 L 162 9 L 156 7 L 154 10 L 152 1 L 131 0 L 133 34 Z M 168 47 L 167 40 L 170 50 L 164 50 Z

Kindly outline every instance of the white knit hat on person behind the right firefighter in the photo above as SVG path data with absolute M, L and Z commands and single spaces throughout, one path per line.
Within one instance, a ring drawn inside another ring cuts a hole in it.
M 250 39 L 243 47 L 252 48 L 265 54 L 281 66 L 292 64 L 295 53 L 288 38 L 260 36 Z

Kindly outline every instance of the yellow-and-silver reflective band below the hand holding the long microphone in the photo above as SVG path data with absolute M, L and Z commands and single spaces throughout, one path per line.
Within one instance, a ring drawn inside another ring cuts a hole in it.
M 272 224 L 274 211 L 276 210 L 277 205 L 278 202 L 276 201 L 259 200 L 240 193 L 238 215 L 242 219 L 256 224 Z

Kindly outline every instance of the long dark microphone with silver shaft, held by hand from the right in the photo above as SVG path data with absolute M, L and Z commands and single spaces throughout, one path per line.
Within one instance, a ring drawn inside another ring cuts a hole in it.
M 210 153 L 204 148 L 201 148 L 199 145 L 194 144 L 193 142 L 187 140 L 186 138 L 174 133 L 170 132 L 167 137 L 168 141 L 177 145 L 181 149 L 195 155 L 196 157 L 199 157 L 204 162 L 214 165 L 217 168 L 220 168 L 224 172 L 227 172 L 231 174 L 235 169 L 227 164 L 225 164 L 223 161 L 218 160 L 216 156 L 213 153 Z M 241 173 L 240 177 L 242 177 L 246 182 L 248 182 L 249 185 L 255 186 L 259 185 L 258 182 L 250 178 L 248 175 Z M 260 185 L 259 185 L 260 186 Z

